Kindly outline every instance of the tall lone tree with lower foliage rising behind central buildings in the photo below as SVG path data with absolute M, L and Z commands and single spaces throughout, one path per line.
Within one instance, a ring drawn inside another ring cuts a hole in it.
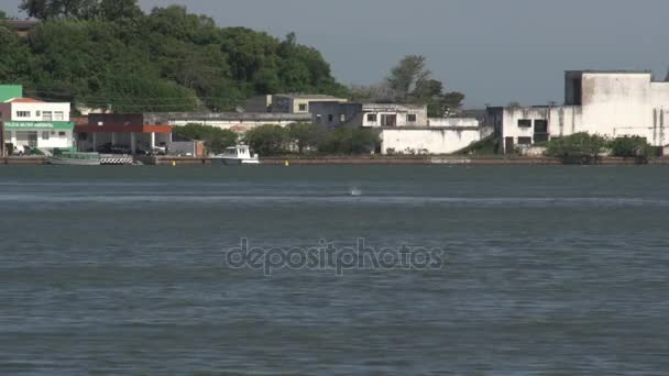
M 445 92 L 443 84 L 432 78 L 425 56 L 405 56 L 382 84 L 353 87 L 357 100 L 427 104 L 430 118 L 449 117 L 462 107 L 464 95 Z

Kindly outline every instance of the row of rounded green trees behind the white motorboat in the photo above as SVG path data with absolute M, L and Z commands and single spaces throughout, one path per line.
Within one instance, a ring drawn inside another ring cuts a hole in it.
M 292 124 L 287 128 L 263 125 L 244 135 L 244 141 L 261 156 L 284 154 L 355 155 L 375 152 L 381 141 L 373 130 L 319 124 Z

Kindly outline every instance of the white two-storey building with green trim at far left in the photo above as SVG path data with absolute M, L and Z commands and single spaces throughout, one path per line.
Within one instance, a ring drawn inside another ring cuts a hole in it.
M 69 103 L 14 98 L 0 103 L 2 142 L 14 147 L 72 148 L 74 123 Z

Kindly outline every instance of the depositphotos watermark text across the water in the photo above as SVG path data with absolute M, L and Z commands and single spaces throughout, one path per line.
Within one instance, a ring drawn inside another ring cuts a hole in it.
M 341 276 L 347 270 L 437 270 L 445 266 L 445 252 L 439 248 L 410 247 L 373 248 L 358 239 L 357 246 L 338 247 L 320 240 L 315 247 L 261 248 L 241 239 L 239 247 L 226 251 L 226 264 L 233 269 L 262 270 L 271 276 L 281 269 L 332 270 Z

